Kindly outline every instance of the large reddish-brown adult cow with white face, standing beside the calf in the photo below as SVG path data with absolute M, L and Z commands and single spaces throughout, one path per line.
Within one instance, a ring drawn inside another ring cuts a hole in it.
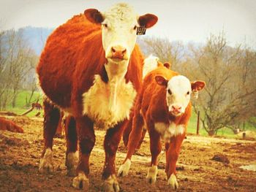
M 61 108 L 71 115 L 66 165 L 68 173 L 75 174 L 72 186 L 89 188 L 89 157 L 95 143 L 94 126 L 98 126 L 107 130 L 105 191 L 119 191 L 116 150 L 142 81 L 137 29 L 151 28 L 157 20 L 156 15 L 138 15 L 128 4 L 119 3 L 106 12 L 86 9 L 53 31 L 37 66 L 39 85 L 48 98 L 40 172 L 53 171 L 53 136 Z

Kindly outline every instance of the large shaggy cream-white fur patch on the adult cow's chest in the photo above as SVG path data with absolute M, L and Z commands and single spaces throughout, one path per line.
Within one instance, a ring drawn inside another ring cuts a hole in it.
M 99 127 L 113 127 L 129 118 L 135 96 L 132 82 L 126 83 L 122 78 L 118 82 L 105 83 L 99 75 L 95 75 L 94 85 L 83 93 L 83 114 L 88 115 Z

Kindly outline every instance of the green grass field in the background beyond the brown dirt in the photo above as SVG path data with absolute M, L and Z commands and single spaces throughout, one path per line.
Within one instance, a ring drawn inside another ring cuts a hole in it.
M 30 107 L 26 107 L 26 96 L 29 97 L 30 92 L 29 91 L 21 91 L 18 95 L 18 99 L 16 101 L 16 107 L 12 108 L 11 105 L 9 105 L 7 107 L 7 111 L 10 112 L 15 112 L 18 115 L 21 115 L 23 112 L 26 112 L 26 110 L 29 110 Z M 34 93 L 33 98 L 31 99 L 31 101 L 37 101 L 37 98 L 39 98 L 39 103 L 42 104 L 42 95 L 40 95 L 39 92 Z M 27 115 L 28 117 L 34 117 L 34 115 L 37 114 L 37 112 L 39 112 L 38 110 L 33 110 L 32 112 L 29 112 L 29 114 Z M 40 110 L 41 112 L 41 117 L 42 117 L 42 113 L 43 111 Z M 246 130 L 255 130 L 256 128 L 249 126 L 248 124 L 246 125 Z M 192 117 L 189 120 L 189 125 L 188 125 L 188 129 L 187 132 L 190 134 L 196 134 L 197 131 L 197 114 L 195 114 L 195 112 L 192 112 Z M 203 129 L 202 124 L 200 123 L 200 131 L 199 131 L 200 135 L 203 136 L 207 136 L 207 132 L 206 130 Z M 233 134 L 233 131 L 230 130 L 230 128 L 222 128 L 217 132 L 218 136 L 222 136 L 222 137 L 229 137 L 229 138 L 233 138 L 236 137 L 235 134 Z

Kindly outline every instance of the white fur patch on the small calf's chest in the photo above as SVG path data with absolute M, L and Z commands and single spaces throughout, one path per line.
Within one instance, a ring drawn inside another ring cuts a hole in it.
M 161 134 L 162 139 L 168 141 L 170 137 L 176 137 L 178 134 L 184 134 L 184 125 L 177 125 L 175 123 L 155 123 L 154 127 L 159 134 Z

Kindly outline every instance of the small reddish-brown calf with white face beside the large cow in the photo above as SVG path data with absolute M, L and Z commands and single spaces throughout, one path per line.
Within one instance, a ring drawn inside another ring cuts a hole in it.
M 200 91 L 205 82 L 189 82 L 187 77 L 158 66 L 149 72 L 135 103 L 132 131 L 129 135 L 127 156 L 118 169 L 118 176 L 129 172 L 132 154 L 141 139 L 145 124 L 150 137 L 151 167 L 146 179 L 150 183 L 157 180 L 157 157 L 161 152 L 161 138 L 165 142 L 167 184 L 178 188 L 176 161 L 185 137 L 187 123 L 191 116 L 192 91 Z

